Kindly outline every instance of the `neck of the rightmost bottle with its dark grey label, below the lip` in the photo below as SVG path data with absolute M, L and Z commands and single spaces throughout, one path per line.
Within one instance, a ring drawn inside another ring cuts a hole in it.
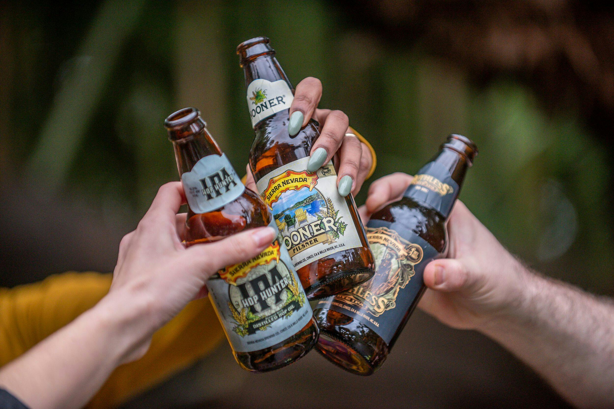
M 435 158 L 422 167 L 404 196 L 433 208 L 447 220 L 471 162 L 459 151 L 443 147 Z

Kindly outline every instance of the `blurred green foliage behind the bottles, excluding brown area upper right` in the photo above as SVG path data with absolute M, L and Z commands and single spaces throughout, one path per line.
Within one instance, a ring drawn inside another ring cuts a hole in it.
M 242 172 L 253 133 L 235 47 L 266 35 L 292 82 L 321 78 L 321 107 L 371 141 L 374 178 L 415 172 L 447 134 L 465 134 L 480 156 L 462 200 L 480 220 L 538 269 L 614 289 L 610 158 L 578 113 L 546 114 L 510 75 L 478 86 L 328 1 L 15 2 L 3 20 L 4 179 L 138 220 L 177 179 L 162 123 L 188 105 Z

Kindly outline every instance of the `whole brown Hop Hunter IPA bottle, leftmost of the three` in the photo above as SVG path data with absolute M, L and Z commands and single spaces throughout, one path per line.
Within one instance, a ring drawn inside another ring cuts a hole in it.
M 254 227 L 277 229 L 266 204 L 244 187 L 208 134 L 198 110 L 179 110 L 165 126 L 188 201 L 186 245 Z M 317 324 L 281 236 L 255 258 L 212 275 L 207 288 L 243 369 L 277 369 L 316 344 Z

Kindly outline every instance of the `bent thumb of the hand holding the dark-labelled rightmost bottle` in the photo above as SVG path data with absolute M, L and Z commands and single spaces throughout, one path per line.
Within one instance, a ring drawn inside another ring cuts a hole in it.
M 435 291 L 452 292 L 473 285 L 472 275 L 457 259 L 431 261 L 424 269 L 424 284 Z

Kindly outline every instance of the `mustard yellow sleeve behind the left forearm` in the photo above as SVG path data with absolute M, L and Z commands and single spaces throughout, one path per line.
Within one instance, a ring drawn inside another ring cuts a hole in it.
M 70 323 L 109 291 L 111 274 L 64 273 L 0 289 L 0 365 Z M 88 408 L 116 407 L 213 350 L 224 337 L 208 299 L 191 302 L 153 335 L 141 359 L 117 368 Z

